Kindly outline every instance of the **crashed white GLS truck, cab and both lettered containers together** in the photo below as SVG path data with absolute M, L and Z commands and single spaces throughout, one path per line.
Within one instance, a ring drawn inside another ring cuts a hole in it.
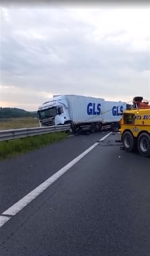
M 105 102 L 103 98 L 57 95 L 39 106 L 39 123 L 40 126 L 71 124 L 73 132 L 96 132 L 118 123 L 122 115 L 122 104 Z

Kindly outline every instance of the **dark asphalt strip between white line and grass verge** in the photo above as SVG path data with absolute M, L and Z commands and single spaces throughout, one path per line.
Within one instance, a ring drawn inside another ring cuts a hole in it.
M 107 133 L 74 136 L 20 157 L 0 161 L 0 213 Z

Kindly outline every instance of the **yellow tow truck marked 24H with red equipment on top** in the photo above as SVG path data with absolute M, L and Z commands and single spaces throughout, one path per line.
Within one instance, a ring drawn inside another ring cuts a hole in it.
M 123 149 L 132 152 L 138 148 L 140 154 L 150 156 L 150 105 L 135 97 L 133 108 L 125 110 L 121 119 L 121 141 Z

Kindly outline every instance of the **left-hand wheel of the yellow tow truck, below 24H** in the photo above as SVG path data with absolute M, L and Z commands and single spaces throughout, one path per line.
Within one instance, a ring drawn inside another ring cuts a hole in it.
M 134 137 L 131 132 L 127 131 L 122 137 L 123 147 L 127 152 L 132 152 L 135 147 Z

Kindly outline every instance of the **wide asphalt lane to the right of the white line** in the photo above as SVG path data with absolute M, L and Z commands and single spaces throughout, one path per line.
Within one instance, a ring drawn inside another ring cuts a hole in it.
M 0 255 L 149 256 L 149 166 L 97 145 L 1 227 Z

